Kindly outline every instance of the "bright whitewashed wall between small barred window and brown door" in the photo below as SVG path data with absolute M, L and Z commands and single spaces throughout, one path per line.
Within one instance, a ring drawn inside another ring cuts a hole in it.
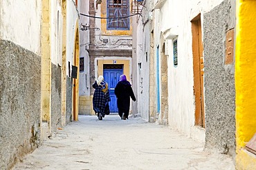
M 205 134 L 203 129 L 194 127 L 194 75 L 190 21 L 199 13 L 203 19 L 203 12 L 214 8 L 219 3 L 221 1 L 167 0 L 160 8 L 159 15 L 155 15 L 159 17 L 157 38 L 170 39 L 168 46 L 170 50 L 170 56 L 168 56 L 168 123 L 170 127 L 199 140 L 204 140 Z M 174 67 L 172 56 L 172 39 L 175 34 L 178 35 L 178 67 Z

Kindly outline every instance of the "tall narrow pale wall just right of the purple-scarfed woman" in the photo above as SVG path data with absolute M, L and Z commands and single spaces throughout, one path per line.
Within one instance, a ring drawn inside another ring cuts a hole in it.
M 143 21 L 147 20 L 148 10 L 143 12 Z M 134 43 L 134 53 L 136 59 L 134 60 L 134 87 L 136 90 L 136 97 L 138 100 L 138 116 L 149 121 L 149 49 L 150 49 L 150 29 L 151 21 L 143 23 L 138 17 L 134 17 L 136 30 L 134 36 L 136 40 Z

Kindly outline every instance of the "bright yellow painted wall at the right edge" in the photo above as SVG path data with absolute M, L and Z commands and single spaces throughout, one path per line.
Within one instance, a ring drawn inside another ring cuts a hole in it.
M 235 90 L 237 169 L 256 169 L 256 156 L 244 150 L 256 133 L 256 1 L 237 1 Z

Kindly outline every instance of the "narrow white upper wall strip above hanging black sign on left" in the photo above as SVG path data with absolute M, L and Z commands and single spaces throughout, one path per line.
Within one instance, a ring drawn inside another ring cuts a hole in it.
M 66 75 L 68 75 L 68 61 L 71 65 L 74 65 L 75 27 L 78 22 L 78 13 L 74 1 L 68 0 L 66 2 L 66 10 L 68 14 L 66 16 Z

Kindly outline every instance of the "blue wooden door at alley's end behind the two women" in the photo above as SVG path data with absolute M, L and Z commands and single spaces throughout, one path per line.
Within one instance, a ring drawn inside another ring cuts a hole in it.
M 111 98 L 111 101 L 109 103 L 110 112 L 118 112 L 118 105 L 116 103 L 116 95 L 114 91 L 121 75 L 122 69 L 103 70 L 104 81 L 106 81 L 109 84 L 109 95 Z

